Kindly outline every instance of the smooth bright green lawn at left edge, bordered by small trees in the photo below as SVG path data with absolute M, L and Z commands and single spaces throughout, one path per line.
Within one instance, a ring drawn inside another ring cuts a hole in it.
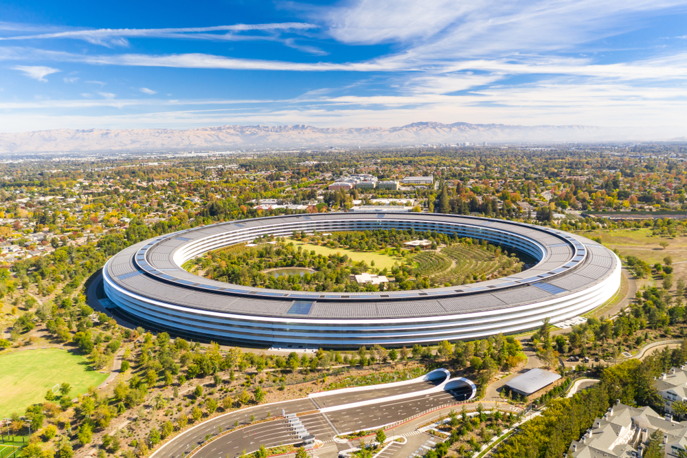
M 76 397 L 98 386 L 106 373 L 91 371 L 86 358 L 65 350 L 45 349 L 15 351 L 0 355 L 0 417 L 12 412 L 23 414 L 58 383 L 71 384 L 70 395 Z

